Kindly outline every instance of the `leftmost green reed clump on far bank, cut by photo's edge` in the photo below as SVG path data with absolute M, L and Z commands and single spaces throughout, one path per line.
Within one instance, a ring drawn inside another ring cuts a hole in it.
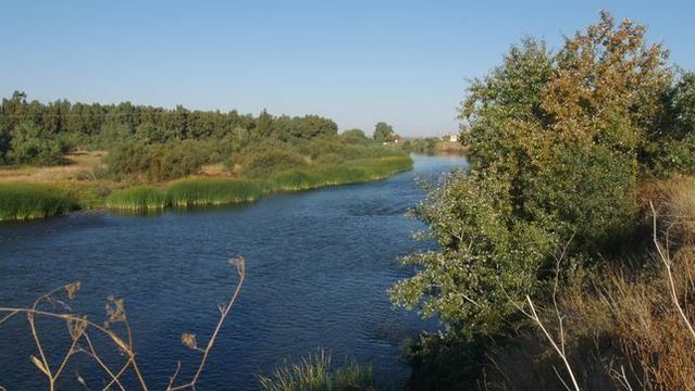
M 63 189 L 39 184 L 0 184 L 0 220 L 58 216 L 77 207 Z

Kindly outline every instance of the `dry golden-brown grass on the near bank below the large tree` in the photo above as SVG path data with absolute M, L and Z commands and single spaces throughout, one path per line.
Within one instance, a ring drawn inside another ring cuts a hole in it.
M 528 303 L 535 329 L 494 350 L 485 388 L 695 390 L 695 179 L 651 184 L 642 197 L 654 204 L 651 261 L 579 276 L 557 305 Z

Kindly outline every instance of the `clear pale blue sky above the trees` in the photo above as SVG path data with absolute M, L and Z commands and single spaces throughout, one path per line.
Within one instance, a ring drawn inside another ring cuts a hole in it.
M 40 101 L 320 114 L 369 133 L 456 131 L 466 80 L 521 36 L 649 25 L 695 70 L 695 1 L 0 0 L 0 93 Z

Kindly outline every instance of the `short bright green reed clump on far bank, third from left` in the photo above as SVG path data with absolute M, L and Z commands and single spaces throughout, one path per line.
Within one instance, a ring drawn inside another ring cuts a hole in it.
M 259 180 L 194 178 L 172 184 L 166 193 L 174 206 L 222 205 L 258 200 L 263 186 Z

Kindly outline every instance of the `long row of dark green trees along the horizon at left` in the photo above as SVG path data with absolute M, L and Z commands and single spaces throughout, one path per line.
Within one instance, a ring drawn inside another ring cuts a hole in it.
M 145 143 L 174 140 L 259 139 L 290 141 L 337 135 L 335 122 L 318 115 L 258 116 L 237 111 L 193 111 L 120 104 L 85 104 L 58 100 L 27 101 L 15 91 L 0 106 L 0 164 L 54 164 L 77 147 L 109 148 L 128 139 Z

